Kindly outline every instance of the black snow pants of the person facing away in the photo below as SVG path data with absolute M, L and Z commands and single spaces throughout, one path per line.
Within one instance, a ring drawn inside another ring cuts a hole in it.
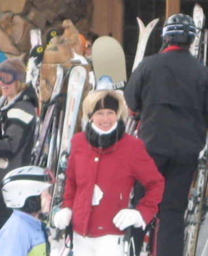
M 184 213 L 198 155 L 167 158 L 151 154 L 156 166 L 165 177 L 165 190 L 159 205 L 159 230 L 156 256 L 182 256 L 184 249 Z

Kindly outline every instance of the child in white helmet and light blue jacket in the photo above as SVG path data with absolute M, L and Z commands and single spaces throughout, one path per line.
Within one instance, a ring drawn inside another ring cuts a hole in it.
M 38 217 L 49 212 L 54 182 L 49 170 L 37 166 L 16 168 L 3 178 L 3 199 L 13 213 L 0 230 L 1 255 L 49 255 L 46 224 Z

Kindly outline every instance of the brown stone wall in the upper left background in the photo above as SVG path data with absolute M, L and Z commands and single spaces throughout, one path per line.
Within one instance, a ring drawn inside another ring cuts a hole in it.
M 66 19 L 85 35 L 91 29 L 92 12 L 92 0 L 0 1 L 0 50 L 7 57 L 26 60 L 32 28 L 40 28 L 45 46 L 48 31 L 56 28 L 62 34 L 62 23 Z

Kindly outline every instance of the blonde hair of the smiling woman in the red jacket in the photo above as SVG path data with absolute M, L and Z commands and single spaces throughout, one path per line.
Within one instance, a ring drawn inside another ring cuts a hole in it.
M 126 119 L 128 116 L 127 106 L 124 96 L 115 90 L 95 90 L 87 95 L 83 101 L 83 118 L 88 118 L 94 112 L 95 106 L 101 100 L 103 105 L 104 98 L 109 95 L 118 101 L 117 119 Z

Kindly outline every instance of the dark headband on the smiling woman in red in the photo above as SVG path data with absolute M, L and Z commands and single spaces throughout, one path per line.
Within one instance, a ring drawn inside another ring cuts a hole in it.
M 114 110 L 114 112 L 117 113 L 117 111 L 118 111 L 118 101 L 117 101 L 116 98 L 107 94 L 107 96 L 105 96 L 105 98 L 97 101 L 92 114 L 94 114 L 99 109 L 112 109 L 112 110 Z

